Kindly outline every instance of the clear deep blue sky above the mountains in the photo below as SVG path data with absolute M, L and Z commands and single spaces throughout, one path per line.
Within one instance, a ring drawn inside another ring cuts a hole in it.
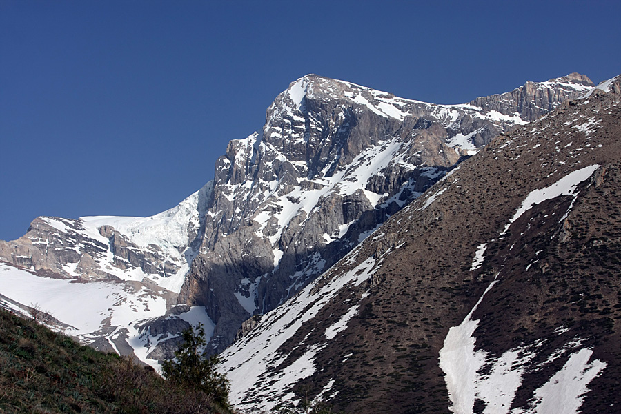
M 307 73 L 434 103 L 621 73 L 620 1 L 0 0 L 0 239 L 147 216 Z

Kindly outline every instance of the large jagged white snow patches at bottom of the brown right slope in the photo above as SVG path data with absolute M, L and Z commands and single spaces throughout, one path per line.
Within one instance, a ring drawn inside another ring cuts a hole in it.
M 475 350 L 474 332 L 479 320 L 473 320 L 485 295 L 498 282 L 494 279 L 486 288 L 475 306 L 458 326 L 449 329 L 440 350 L 440 368 L 444 371 L 446 388 L 449 391 L 451 406 L 455 414 L 473 414 L 475 400 L 485 403 L 484 414 L 577 414 L 587 387 L 593 378 L 598 377 L 607 364 L 598 359 L 589 362 L 593 351 L 581 348 L 580 340 L 573 341 L 556 351 L 561 355 L 574 348 L 564 366 L 545 384 L 533 393 L 528 408 L 514 408 L 511 403 L 517 389 L 522 385 L 526 370 L 538 371 L 551 362 L 548 359 L 540 365 L 532 366 L 529 362 L 537 355 L 539 344 L 517 346 L 505 351 L 500 357 L 489 357 L 484 350 Z M 482 368 L 491 368 L 488 374 L 482 374 Z

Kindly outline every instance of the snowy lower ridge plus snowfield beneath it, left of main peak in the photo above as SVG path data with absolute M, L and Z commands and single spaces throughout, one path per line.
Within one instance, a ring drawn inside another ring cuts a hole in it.
M 146 322 L 181 319 L 182 330 L 200 320 L 213 331 L 204 308 L 175 308 L 210 192 L 208 183 L 152 217 L 38 217 L 25 236 L 1 242 L 12 263 L 0 263 L 0 302 L 26 315 L 40 308 L 86 344 L 158 366 L 148 353 L 178 332 L 151 335 Z

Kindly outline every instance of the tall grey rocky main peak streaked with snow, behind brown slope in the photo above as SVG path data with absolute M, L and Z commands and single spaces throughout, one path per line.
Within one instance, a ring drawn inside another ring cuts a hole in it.
M 242 321 L 322 274 L 460 155 L 533 119 L 526 107 L 544 99 L 558 106 L 588 82 L 570 75 L 528 83 L 510 92 L 515 102 L 496 95 L 480 99 L 481 108 L 298 79 L 268 108 L 262 132 L 231 141 L 217 161 L 201 253 L 180 303 L 206 306 L 216 324 L 210 346 L 224 350 Z

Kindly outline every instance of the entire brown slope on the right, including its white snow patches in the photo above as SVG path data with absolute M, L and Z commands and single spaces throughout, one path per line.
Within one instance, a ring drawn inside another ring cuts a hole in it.
M 619 79 L 493 139 L 264 315 L 222 354 L 237 408 L 619 412 Z

